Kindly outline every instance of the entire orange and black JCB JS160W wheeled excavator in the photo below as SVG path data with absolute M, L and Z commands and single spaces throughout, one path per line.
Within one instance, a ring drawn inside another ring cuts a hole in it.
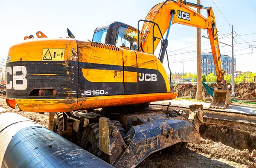
M 208 17 L 189 7 L 207 9 Z M 137 29 L 121 22 L 100 26 L 88 41 L 76 40 L 69 30 L 67 38 L 49 39 L 42 32 L 38 39 L 26 36 L 9 50 L 6 103 L 23 111 L 49 112 L 54 132 L 115 167 L 135 167 L 168 146 L 199 143 L 202 106 L 192 106 L 189 118 L 169 106 L 148 107 L 149 102 L 177 96 L 162 64 L 165 54 L 168 60 L 167 39 L 174 23 L 208 30 L 218 83 L 212 106 L 217 106 L 229 92 L 215 17 L 211 7 L 183 0 L 157 4 Z M 160 41 L 157 58 L 153 54 Z

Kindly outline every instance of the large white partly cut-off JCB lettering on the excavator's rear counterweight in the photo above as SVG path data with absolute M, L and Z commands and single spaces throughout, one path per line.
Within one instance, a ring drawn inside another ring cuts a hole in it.
M 26 90 L 28 81 L 26 79 L 26 67 L 24 66 L 15 66 L 6 67 L 6 89 L 14 90 Z M 12 76 L 12 80 L 10 80 L 10 76 Z M 9 83 L 8 83 L 9 82 Z

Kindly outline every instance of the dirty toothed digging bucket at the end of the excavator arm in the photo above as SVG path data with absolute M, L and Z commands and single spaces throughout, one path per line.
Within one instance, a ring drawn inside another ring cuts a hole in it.
M 211 108 L 226 109 L 230 104 L 230 92 L 228 90 L 214 89 Z

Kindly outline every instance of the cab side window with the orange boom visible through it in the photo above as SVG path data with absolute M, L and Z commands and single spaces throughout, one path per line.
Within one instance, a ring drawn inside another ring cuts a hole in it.
M 128 47 L 134 49 L 133 44 L 137 42 L 137 30 L 127 26 L 120 26 L 116 35 L 117 47 Z

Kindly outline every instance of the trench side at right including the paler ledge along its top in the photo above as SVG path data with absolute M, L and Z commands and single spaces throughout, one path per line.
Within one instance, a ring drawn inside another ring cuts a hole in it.
M 164 106 L 152 106 L 166 108 Z M 188 108 L 172 106 L 189 115 Z M 204 123 L 199 128 L 204 139 L 221 142 L 235 149 L 256 149 L 256 117 L 204 110 Z

